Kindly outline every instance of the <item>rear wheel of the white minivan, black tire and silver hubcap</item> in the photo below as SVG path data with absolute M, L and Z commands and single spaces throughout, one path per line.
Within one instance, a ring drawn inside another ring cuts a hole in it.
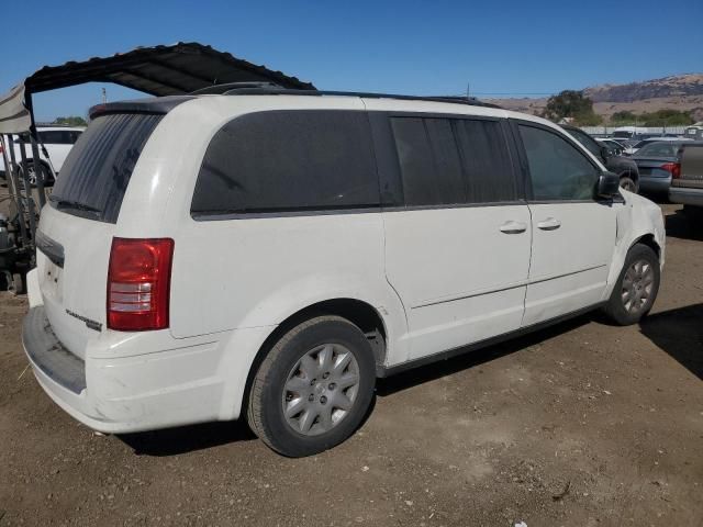
M 249 391 L 247 421 L 283 456 L 298 458 L 347 439 L 373 396 L 376 365 L 361 330 L 339 316 L 319 316 L 270 349 Z

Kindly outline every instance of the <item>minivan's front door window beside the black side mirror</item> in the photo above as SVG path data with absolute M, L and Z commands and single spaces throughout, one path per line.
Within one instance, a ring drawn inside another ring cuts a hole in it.
M 535 200 L 590 200 L 596 168 L 556 133 L 520 125 Z

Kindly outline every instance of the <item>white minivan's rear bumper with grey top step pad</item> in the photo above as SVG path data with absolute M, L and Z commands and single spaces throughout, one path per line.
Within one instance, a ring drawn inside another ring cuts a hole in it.
M 54 335 L 42 305 L 23 324 L 22 343 L 44 391 L 77 421 L 107 434 L 236 418 L 223 407 L 222 346 L 202 343 L 83 362 Z M 174 346 L 174 344 L 171 344 Z

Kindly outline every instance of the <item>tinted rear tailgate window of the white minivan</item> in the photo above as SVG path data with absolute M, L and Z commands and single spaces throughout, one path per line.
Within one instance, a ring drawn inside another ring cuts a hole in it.
M 71 148 L 49 202 L 56 209 L 116 223 L 124 192 L 142 148 L 163 115 L 97 117 Z

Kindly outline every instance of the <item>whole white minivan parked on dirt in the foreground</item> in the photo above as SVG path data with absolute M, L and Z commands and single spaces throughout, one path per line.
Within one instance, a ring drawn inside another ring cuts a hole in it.
M 306 456 L 354 433 L 379 377 L 596 307 L 636 323 L 665 229 L 548 121 L 252 89 L 93 109 L 36 245 L 24 348 L 71 416 L 246 416 Z

